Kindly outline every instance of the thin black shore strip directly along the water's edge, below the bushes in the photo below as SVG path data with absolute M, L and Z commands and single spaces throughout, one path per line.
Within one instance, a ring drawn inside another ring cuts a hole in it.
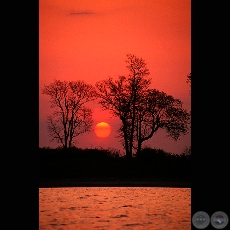
M 96 178 L 96 179 L 44 179 L 39 181 L 39 188 L 57 187 L 173 187 L 191 188 L 190 181 L 178 179 L 117 179 L 117 178 Z

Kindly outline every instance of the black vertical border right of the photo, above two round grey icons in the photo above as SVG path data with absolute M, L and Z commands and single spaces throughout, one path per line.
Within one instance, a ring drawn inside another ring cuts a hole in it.
M 216 1 L 192 1 L 192 216 L 223 211 L 230 217 L 226 9 Z

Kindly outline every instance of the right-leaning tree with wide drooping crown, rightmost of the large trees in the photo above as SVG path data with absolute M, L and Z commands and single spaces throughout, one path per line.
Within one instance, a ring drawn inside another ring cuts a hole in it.
M 169 137 L 178 140 L 181 135 L 188 133 L 189 123 L 190 114 L 182 108 L 179 99 L 156 89 L 149 90 L 137 110 L 137 155 L 140 154 L 142 143 L 159 129 L 164 129 Z

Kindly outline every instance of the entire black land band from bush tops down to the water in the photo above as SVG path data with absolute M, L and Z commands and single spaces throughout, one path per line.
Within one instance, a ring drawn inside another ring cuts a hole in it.
M 157 149 L 132 159 L 109 150 L 40 149 L 39 188 L 102 186 L 191 188 L 191 157 Z

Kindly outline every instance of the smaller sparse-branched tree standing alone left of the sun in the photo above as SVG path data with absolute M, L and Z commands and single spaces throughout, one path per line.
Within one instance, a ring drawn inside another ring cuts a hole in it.
M 84 105 L 95 99 L 93 86 L 83 81 L 55 80 L 42 93 L 51 97 L 51 108 L 55 109 L 47 121 L 51 141 L 69 148 L 76 136 L 91 131 L 92 109 Z

